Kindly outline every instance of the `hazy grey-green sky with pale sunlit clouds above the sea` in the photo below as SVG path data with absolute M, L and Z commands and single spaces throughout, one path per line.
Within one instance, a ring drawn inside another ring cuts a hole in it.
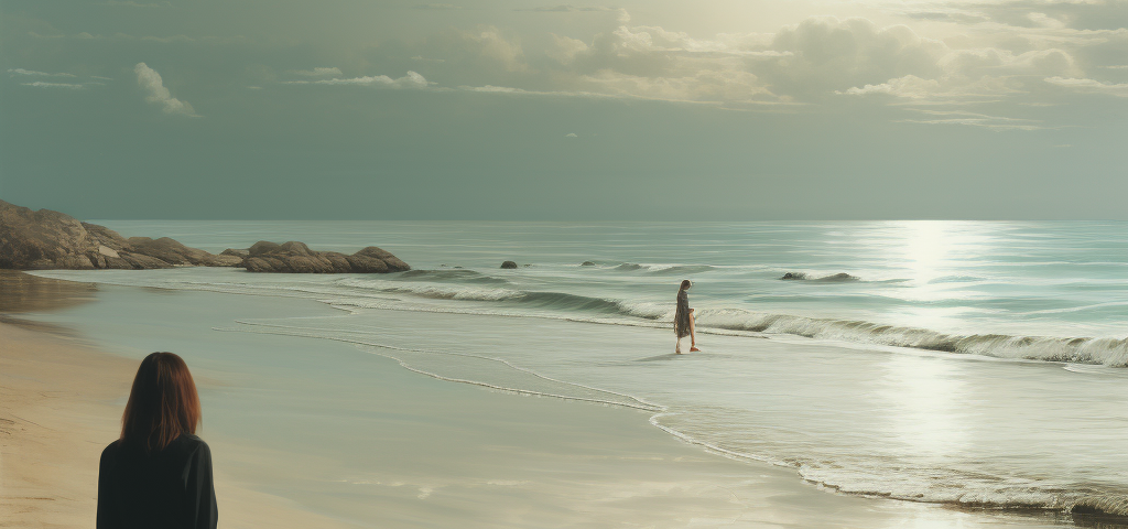
M 1128 220 L 1128 0 L 0 0 L 82 219 Z

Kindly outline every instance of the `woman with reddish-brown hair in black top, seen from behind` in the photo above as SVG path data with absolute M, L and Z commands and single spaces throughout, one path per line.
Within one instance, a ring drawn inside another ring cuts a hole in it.
M 195 437 L 200 417 L 184 360 L 146 356 L 122 415 L 122 437 L 102 452 L 98 529 L 215 528 L 211 450 Z

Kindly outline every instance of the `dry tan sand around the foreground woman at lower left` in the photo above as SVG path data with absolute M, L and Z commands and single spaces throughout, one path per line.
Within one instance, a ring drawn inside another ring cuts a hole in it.
M 0 527 L 92 527 L 98 458 L 133 360 L 45 327 L 0 324 Z M 222 527 L 355 527 L 217 477 Z

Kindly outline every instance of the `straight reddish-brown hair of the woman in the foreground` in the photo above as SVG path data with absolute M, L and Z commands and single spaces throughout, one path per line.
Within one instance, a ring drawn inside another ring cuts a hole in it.
M 122 415 L 122 441 L 146 451 L 161 450 L 185 433 L 196 433 L 200 396 L 184 360 L 152 353 L 141 361 Z

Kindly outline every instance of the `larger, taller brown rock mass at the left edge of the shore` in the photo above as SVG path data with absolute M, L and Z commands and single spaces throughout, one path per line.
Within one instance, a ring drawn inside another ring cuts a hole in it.
M 233 266 L 241 262 L 188 248 L 173 239 L 126 239 L 104 226 L 51 210 L 32 211 L 0 201 L 0 268 L 168 268 Z

